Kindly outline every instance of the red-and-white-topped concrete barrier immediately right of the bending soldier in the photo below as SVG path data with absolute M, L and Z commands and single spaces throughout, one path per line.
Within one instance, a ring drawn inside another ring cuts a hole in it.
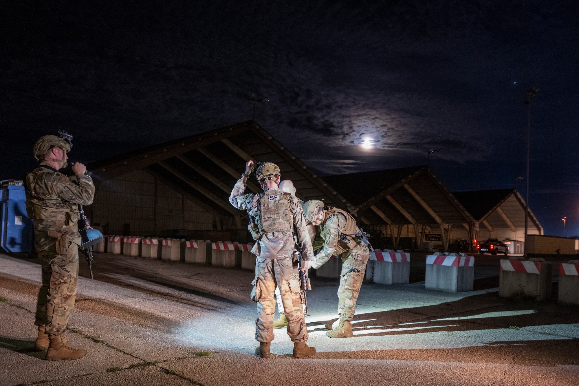
M 366 266 L 366 279 L 379 284 L 408 284 L 410 282 L 410 254 L 402 250 L 394 252 L 379 249 L 370 252 Z

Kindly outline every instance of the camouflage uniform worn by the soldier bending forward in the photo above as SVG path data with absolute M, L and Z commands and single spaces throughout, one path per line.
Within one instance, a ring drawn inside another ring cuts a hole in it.
M 316 232 L 313 242 L 314 250 L 322 248 L 314 257 L 313 268 L 320 268 L 332 255 L 342 254 L 342 274 L 338 288 L 338 316 L 345 321 L 354 318 L 354 308 L 360 293 L 362 281 L 366 271 L 366 264 L 370 258 L 368 247 L 357 237 L 350 237 L 346 244 L 340 240 L 340 234 L 355 234 L 360 230 L 350 214 L 342 210 L 329 209 L 326 217 Z M 348 216 L 350 217 L 348 219 Z

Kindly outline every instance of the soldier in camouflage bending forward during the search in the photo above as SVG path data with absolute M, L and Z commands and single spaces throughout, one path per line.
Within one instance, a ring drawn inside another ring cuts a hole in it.
M 354 308 L 360 293 L 370 258 L 368 246 L 362 242 L 362 232 L 356 226 L 356 220 L 342 209 L 327 206 L 318 200 L 310 200 L 303 205 L 307 221 L 316 225 L 316 238 L 313 249 L 321 248 L 314 256 L 313 268 L 320 268 L 333 255 L 342 254 L 342 274 L 338 288 L 339 323 L 332 330 L 332 324 L 326 328 L 332 330 L 326 333 L 331 338 L 350 338 L 352 334 L 351 321 L 354 318 Z

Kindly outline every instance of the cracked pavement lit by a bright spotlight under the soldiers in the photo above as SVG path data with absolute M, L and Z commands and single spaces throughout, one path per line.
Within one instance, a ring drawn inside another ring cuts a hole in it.
M 262 359 L 254 272 L 96 254 L 94 279 L 80 262 L 65 333 L 88 353 L 49 362 L 31 351 L 39 262 L 0 254 L 0 385 L 579 384 L 577 307 L 500 298 L 496 256 L 477 257 L 474 291 L 427 291 L 422 257 L 411 256 L 411 284 L 362 286 L 353 338 L 325 336 L 338 281 L 312 278 L 306 322 L 316 356 L 292 358 L 280 329 L 275 355 Z

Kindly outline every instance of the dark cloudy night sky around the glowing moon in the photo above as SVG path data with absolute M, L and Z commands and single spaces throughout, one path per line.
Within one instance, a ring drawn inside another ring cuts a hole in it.
M 570 1 L 3 1 L 0 177 L 39 136 L 106 156 L 252 118 L 321 175 L 423 165 L 450 190 L 525 175 L 579 235 L 579 12 Z M 361 143 L 371 141 L 366 150 Z M 525 195 L 525 183 L 519 184 Z

